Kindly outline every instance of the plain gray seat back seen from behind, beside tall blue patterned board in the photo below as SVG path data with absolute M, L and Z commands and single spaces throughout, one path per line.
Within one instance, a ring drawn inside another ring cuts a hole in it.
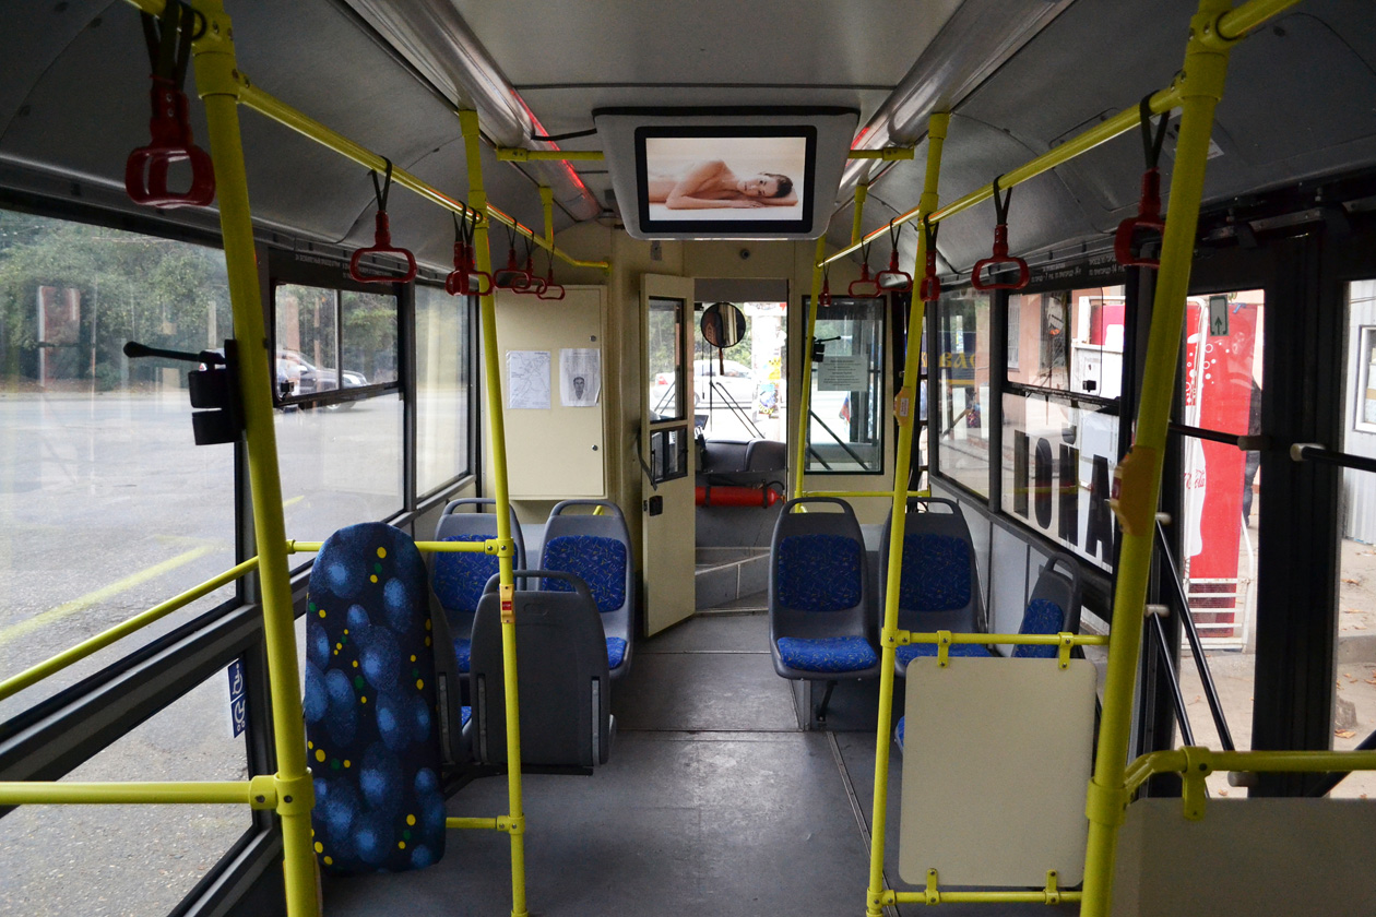
M 604 764 L 611 751 L 611 678 L 592 594 L 568 573 L 516 575 L 559 579 L 571 590 L 517 590 L 515 595 L 522 764 L 556 770 Z M 501 598 L 495 577 L 488 586 L 473 619 L 471 734 L 479 762 L 505 764 Z

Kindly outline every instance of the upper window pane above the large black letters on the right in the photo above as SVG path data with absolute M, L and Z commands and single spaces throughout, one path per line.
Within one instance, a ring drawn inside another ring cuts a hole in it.
M 1121 286 L 1009 296 L 1009 382 L 1115 399 L 1123 381 Z

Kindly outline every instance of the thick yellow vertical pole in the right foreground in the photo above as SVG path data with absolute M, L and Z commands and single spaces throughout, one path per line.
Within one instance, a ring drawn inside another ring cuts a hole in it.
M 1210 133 L 1214 109 L 1223 95 L 1227 74 L 1229 41 L 1219 36 L 1218 21 L 1232 5 L 1232 0 L 1200 1 L 1198 12 L 1190 21 L 1185 69 L 1176 77 L 1181 91 L 1181 135 L 1171 172 L 1171 198 L 1161 242 L 1156 300 L 1152 305 L 1142 400 L 1132 450 L 1117 470 L 1119 499 L 1115 511 L 1123 527 L 1123 546 L 1113 595 L 1113 635 L 1109 641 L 1104 686 L 1104 716 L 1094 778 L 1086 802 L 1090 835 L 1084 857 L 1084 896 L 1080 902 L 1084 917 L 1105 917 L 1109 913 L 1117 829 L 1128 802 L 1124 771 L 1142 643 L 1142 613 L 1152 564 L 1152 529 L 1160 498 L 1167 422 L 1175 389 L 1181 329 L 1185 324 L 1185 297 L 1189 293 Z

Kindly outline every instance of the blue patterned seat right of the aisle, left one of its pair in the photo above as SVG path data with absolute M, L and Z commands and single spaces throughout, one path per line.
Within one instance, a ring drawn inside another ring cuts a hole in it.
M 839 511 L 837 511 L 839 507 Z M 808 511 L 798 511 L 806 509 Z M 879 671 L 868 613 L 864 538 L 834 498 L 788 500 L 769 547 L 769 652 L 783 678 L 871 678 Z M 826 716 L 826 700 L 813 712 Z

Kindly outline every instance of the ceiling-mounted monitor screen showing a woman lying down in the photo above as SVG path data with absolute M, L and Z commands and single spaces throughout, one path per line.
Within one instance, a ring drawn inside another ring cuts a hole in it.
M 812 228 L 812 125 L 636 128 L 640 230 L 797 234 Z

